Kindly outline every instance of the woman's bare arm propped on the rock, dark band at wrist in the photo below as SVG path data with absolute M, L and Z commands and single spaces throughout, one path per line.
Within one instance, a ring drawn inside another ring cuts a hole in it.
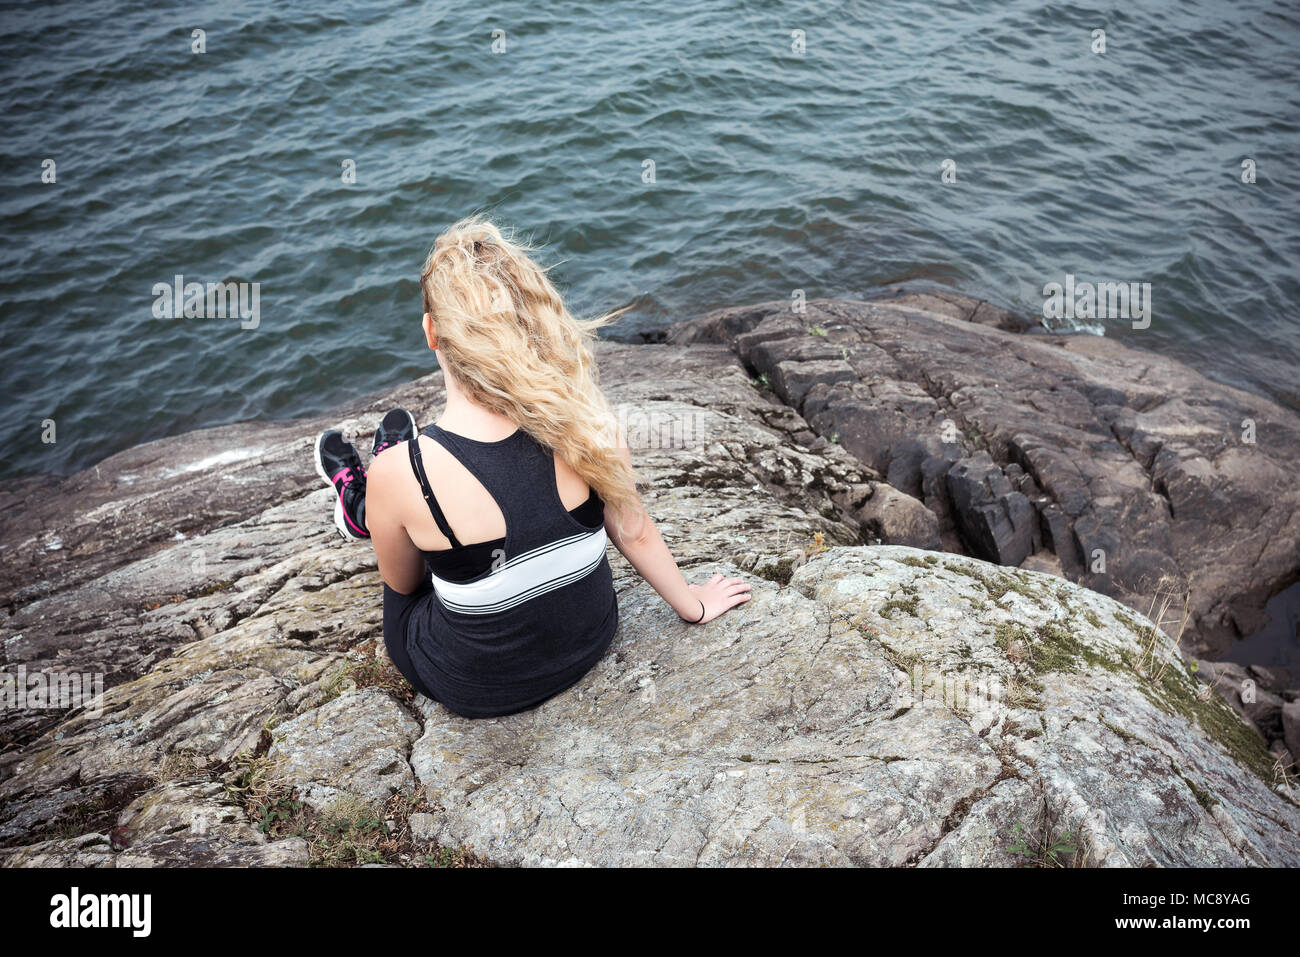
M 630 464 L 628 449 L 623 447 L 620 452 Z M 728 609 L 749 601 L 749 585 L 740 579 L 715 575 L 703 585 L 688 585 L 654 519 L 640 499 L 637 505 L 640 508 L 630 515 L 607 508 L 604 531 L 623 557 L 679 616 L 693 623 L 711 622 Z

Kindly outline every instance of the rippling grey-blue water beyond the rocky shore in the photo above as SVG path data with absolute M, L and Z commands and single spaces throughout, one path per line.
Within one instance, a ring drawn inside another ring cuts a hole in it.
M 1106 334 L 1300 406 L 1284 3 L 260 7 L 0 13 L 4 476 L 428 372 L 419 267 L 472 211 L 547 243 L 575 311 L 632 304 L 621 334 L 793 289 L 1039 313 L 1067 272 L 1145 281 L 1150 329 Z M 156 319 L 178 273 L 260 283 L 259 326 Z

